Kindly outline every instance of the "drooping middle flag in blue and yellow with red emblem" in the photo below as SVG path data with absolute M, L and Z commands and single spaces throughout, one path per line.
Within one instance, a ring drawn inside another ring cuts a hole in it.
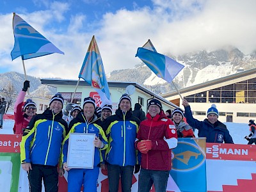
M 78 77 L 92 84 L 92 88 L 99 93 L 102 103 L 111 103 L 108 81 L 94 35 L 86 52 Z

